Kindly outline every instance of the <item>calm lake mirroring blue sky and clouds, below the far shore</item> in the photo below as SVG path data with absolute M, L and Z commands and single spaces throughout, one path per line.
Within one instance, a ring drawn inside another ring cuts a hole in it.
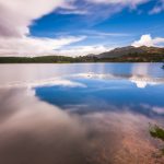
M 163 63 L 0 66 L 0 164 L 163 164 Z

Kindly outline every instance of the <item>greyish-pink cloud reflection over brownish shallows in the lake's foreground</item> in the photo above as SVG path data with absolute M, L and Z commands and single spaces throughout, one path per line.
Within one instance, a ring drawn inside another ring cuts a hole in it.
M 151 156 L 155 147 L 145 130 L 152 120 L 142 115 L 126 112 L 71 115 L 26 96 L 23 90 L 5 93 L 10 95 L 7 102 L 2 104 L 3 96 L 0 97 L 1 163 L 155 162 Z

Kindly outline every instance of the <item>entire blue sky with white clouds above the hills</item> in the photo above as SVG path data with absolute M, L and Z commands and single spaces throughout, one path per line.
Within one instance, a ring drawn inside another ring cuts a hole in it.
M 0 56 L 164 46 L 164 0 L 0 0 Z

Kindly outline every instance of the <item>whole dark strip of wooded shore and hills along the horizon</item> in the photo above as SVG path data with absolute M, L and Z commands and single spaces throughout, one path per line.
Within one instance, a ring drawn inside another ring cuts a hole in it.
M 0 57 L 0 63 L 72 63 L 72 62 L 164 62 L 164 48 L 122 47 L 99 55 L 83 57 Z

